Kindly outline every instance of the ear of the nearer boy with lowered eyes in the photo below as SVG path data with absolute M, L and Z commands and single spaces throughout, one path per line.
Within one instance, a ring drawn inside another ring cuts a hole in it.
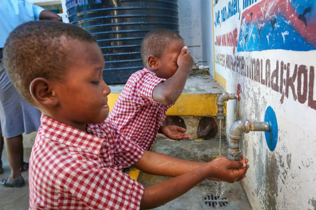
M 58 104 L 58 97 L 53 90 L 52 83 L 42 77 L 33 79 L 30 84 L 30 92 L 33 99 L 43 106 Z

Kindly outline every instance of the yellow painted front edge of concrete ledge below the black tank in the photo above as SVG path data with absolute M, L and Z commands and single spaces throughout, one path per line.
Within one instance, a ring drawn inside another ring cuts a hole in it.
M 216 99 L 218 95 L 219 94 L 181 94 L 176 103 L 168 109 L 167 115 L 216 116 Z M 110 111 L 118 97 L 119 93 L 111 93 L 108 95 L 107 103 Z M 224 106 L 224 113 L 226 115 L 226 105 Z

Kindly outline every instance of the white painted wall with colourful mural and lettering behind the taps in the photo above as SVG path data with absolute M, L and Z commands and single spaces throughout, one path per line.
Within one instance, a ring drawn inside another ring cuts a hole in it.
M 316 209 L 316 0 L 212 3 L 215 77 L 241 95 L 227 106 L 227 128 L 239 119 L 263 121 L 267 106 L 278 121 L 273 152 L 262 133 L 241 141 L 253 209 Z

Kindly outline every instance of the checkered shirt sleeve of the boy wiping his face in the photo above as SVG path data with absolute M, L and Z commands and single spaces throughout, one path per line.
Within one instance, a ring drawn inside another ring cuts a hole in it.
M 137 81 L 137 96 L 142 102 L 142 105 L 149 105 L 158 103 L 153 99 L 153 90 L 160 82 L 165 81 L 165 79 L 156 77 L 155 75 L 147 72 L 143 74 L 142 77 L 138 78 Z

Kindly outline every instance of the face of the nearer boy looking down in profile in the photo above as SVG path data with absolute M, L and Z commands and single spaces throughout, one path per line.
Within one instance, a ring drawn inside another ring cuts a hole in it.
M 109 113 L 111 90 L 102 78 L 104 58 L 97 43 L 76 42 L 71 47 L 65 77 L 56 84 L 60 122 L 73 127 L 101 123 Z

